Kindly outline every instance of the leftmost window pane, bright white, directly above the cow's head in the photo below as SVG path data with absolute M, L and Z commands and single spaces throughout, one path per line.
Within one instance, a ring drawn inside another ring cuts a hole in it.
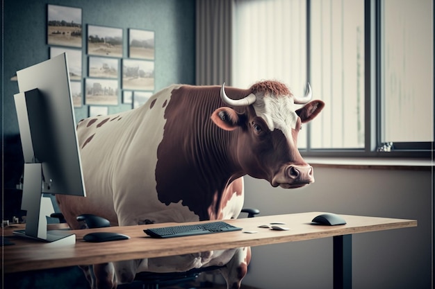
M 305 1 L 235 0 L 231 85 L 248 88 L 272 79 L 304 95 L 306 36 Z M 299 134 L 299 147 L 306 148 L 306 132 Z

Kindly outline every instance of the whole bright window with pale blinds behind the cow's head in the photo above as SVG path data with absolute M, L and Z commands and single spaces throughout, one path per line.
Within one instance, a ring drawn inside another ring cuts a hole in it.
M 309 80 L 313 98 L 326 106 L 299 134 L 306 155 L 427 155 L 434 141 L 432 5 L 235 0 L 231 83 L 272 78 L 304 94 Z

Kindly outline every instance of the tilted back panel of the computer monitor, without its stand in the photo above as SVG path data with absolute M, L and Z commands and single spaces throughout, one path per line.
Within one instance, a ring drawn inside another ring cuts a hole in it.
M 24 162 L 42 164 L 43 193 L 85 195 L 66 54 L 17 71 Z

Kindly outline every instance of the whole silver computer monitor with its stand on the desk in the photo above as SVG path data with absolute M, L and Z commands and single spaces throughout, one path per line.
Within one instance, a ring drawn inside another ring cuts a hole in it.
M 17 71 L 15 94 L 24 155 L 22 209 L 30 238 L 72 243 L 75 235 L 47 231 L 51 200 L 44 193 L 85 197 L 66 53 Z

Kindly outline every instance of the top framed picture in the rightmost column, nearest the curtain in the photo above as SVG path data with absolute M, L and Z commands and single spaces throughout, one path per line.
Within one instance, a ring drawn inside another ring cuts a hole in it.
M 154 31 L 129 29 L 129 57 L 154 60 Z

